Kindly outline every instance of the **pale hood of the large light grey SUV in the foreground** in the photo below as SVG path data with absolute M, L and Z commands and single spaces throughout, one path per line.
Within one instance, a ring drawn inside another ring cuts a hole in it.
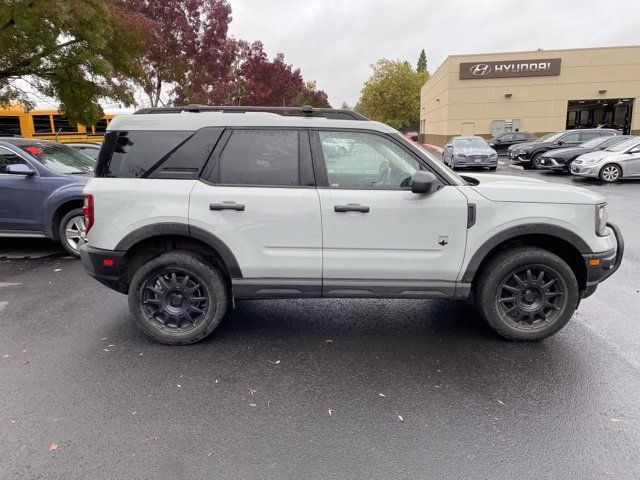
M 470 188 L 494 202 L 595 205 L 605 201 L 602 195 L 573 185 L 515 175 L 471 174 L 466 176 L 480 182 L 479 185 Z

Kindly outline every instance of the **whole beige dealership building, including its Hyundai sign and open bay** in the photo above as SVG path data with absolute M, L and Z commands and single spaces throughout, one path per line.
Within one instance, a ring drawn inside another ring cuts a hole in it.
M 420 140 L 617 125 L 640 134 L 640 46 L 452 55 L 423 85 Z

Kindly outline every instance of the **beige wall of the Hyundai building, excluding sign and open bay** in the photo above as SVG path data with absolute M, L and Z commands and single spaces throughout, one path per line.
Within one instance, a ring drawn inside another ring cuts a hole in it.
M 459 79 L 462 62 L 538 58 L 561 58 L 560 75 Z M 493 120 L 520 119 L 521 131 L 537 134 L 563 130 L 569 100 L 607 98 L 640 99 L 640 46 L 451 56 L 422 87 L 421 140 L 442 146 L 470 130 L 489 137 Z M 640 134 L 639 103 L 633 134 Z

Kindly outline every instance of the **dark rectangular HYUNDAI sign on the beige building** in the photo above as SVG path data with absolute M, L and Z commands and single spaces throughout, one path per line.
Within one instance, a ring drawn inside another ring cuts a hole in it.
M 460 80 L 560 75 L 560 59 L 504 60 L 460 64 Z

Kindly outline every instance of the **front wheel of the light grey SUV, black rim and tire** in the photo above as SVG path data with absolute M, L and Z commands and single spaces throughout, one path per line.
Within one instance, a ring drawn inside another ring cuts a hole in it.
M 571 319 L 580 299 L 571 267 L 537 247 L 499 253 L 474 283 L 480 312 L 510 340 L 535 341 L 555 334 Z

